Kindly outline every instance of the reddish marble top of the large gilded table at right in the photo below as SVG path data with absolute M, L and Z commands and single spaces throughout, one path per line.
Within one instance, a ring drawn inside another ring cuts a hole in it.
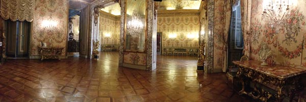
M 261 61 L 233 61 L 234 64 L 242 66 L 244 68 L 249 68 L 252 70 L 256 70 L 258 72 L 264 73 L 266 75 L 270 75 L 272 77 L 278 78 L 279 80 L 284 80 L 286 78 L 293 77 L 295 75 L 306 73 L 306 68 L 298 68 L 298 67 L 289 67 L 283 65 L 261 65 Z

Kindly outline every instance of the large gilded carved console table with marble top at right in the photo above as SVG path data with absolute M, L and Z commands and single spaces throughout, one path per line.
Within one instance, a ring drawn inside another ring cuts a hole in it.
M 242 83 L 242 90 L 239 94 L 247 94 L 254 99 L 268 101 L 271 97 L 275 97 L 277 101 L 283 101 L 285 94 L 290 96 L 290 101 L 298 90 L 303 86 L 300 84 L 301 74 L 306 73 L 306 69 L 301 67 L 289 67 L 283 65 L 263 66 L 261 61 L 233 61 L 239 67 L 237 78 Z M 246 92 L 244 84 L 246 80 L 254 82 L 253 91 Z M 272 87 L 276 94 L 268 91 L 258 90 L 256 84 L 260 83 L 265 86 Z

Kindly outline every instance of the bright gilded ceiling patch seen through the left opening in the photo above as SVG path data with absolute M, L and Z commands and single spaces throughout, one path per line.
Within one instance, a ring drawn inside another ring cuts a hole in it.
M 101 9 L 102 11 L 105 11 L 107 13 L 111 13 L 115 16 L 118 16 L 121 14 L 121 8 L 120 8 L 120 5 L 119 3 L 116 3 L 116 4 L 113 4 L 113 5 L 110 5 L 110 6 L 107 6 L 105 7 L 104 9 Z

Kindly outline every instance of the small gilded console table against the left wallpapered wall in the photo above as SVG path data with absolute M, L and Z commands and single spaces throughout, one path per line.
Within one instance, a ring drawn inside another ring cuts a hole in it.
M 43 59 L 59 59 L 63 53 L 64 47 L 41 47 L 38 46 L 41 60 Z

